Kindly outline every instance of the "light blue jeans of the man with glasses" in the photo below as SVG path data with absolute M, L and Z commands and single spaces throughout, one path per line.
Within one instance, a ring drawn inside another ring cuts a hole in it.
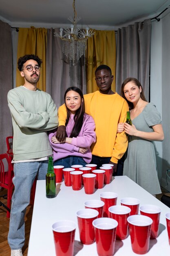
M 13 184 L 15 186 L 9 222 L 8 243 L 11 249 L 22 249 L 25 242 L 24 216 L 30 202 L 31 187 L 38 180 L 45 180 L 48 160 L 14 164 Z M 45 189 L 45 188 L 44 188 Z

